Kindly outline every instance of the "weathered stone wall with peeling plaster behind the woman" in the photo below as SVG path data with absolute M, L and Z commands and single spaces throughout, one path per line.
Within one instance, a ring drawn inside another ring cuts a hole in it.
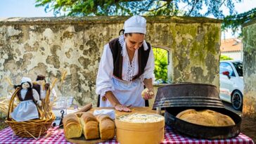
M 103 46 L 118 37 L 128 17 L 8 18 L 0 20 L 0 93 L 13 91 L 5 80 L 45 74 L 58 78 L 58 95 L 75 103 L 96 103 L 96 74 Z M 219 88 L 220 20 L 147 17 L 146 40 L 169 48 L 173 83 L 214 84 Z M 67 73 L 60 86 L 60 77 Z

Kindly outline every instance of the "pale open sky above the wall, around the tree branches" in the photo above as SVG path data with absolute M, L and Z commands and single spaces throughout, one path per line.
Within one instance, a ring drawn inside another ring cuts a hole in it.
M 11 17 L 52 17 L 53 12 L 45 13 L 44 7 L 35 7 L 34 0 L 0 0 L 0 18 Z M 256 8 L 256 0 L 243 0 L 242 3 L 235 4 L 238 13 L 249 11 Z M 224 10 L 224 15 L 228 14 L 228 10 Z M 231 35 L 231 31 L 225 32 L 226 39 L 236 37 Z M 222 32 L 222 39 L 224 33 Z

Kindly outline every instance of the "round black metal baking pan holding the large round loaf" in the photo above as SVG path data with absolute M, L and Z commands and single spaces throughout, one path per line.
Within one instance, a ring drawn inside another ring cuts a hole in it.
M 176 115 L 188 109 L 195 110 L 214 110 L 215 112 L 220 112 L 226 114 L 236 125 L 234 126 L 201 126 L 198 124 L 192 124 L 186 122 L 182 119 L 176 117 Z M 204 138 L 204 139 L 224 139 L 224 138 L 233 138 L 238 136 L 240 133 L 241 126 L 241 117 L 238 114 L 226 110 L 225 108 L 219 107 L 168 107 L 165 108 L 165 124 L 171 126 L 173 129 L 176 129 L 180 133 L 183 133 L 187 136 L 192 136 L 194 138 Z

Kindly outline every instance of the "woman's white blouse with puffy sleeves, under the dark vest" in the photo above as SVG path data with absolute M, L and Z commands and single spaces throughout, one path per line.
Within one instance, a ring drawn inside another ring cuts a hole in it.
M 101 56 L 101 62 L 98 67 L 98 75 L 96 79 L 96 94 L 100 95 L 101 97 L 105 96 L 106 91 L 115 91 L 119 89 L 120 82 L 122 83 L 122 86 L 123 85 L 130 86 L 132 83 L 135 83 L 135 80 L 132 81 L 132 78 L 139 73 L 138 50 L 135 51 L 134 58 L 132 59 L 132 64 L 130 64 L 129 56 L 127 54 L 127 48 L 126 48 L 126 44 L 123 36 L 119 37 L 119 42 L 120 42 L 120 45 L 122 46 L 122 57 L 123 57 L 122 79 L 124 81 L 115 79 L 113 77 L 113 70 L 114 70 L 113 55 L 110 50 L 109 44 L 106 44 L 103 49 L 103 54 Z M 148 45 L 146 44 L 146 41 L 143 41 L 143 47 L 144 47 L 144 51 L 148 50 Z M 141 83 L 141 84 L 138 83 L 139 85 L 143 85 L 144 79 L 155 78 L 153 73 L 154 68 L 155 68 L 155 60 L 154 60 L 153 50 L 151 48 L 151 51 L 148 56 L 148 63 L 146 64 L 143 74 L 141 74 L 141 76 L 138 78 L 139 83 Z M 113 79 L 115 79 L 115 81 L 118 80 L 120 82 L 118 84 L 115 84 L 115 82 L 113 82 Z M 131 89 L 131 91 L 133 90 Z M 137 91 L 137 90 L 134 89 L 134 91 Z M 125 95 L 125 93 L 114 93 L 114 94 Z

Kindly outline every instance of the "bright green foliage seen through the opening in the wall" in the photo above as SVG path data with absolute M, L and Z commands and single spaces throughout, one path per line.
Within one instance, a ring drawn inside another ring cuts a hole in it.
M 153 48 L 155 56 L 155 79 L 168 81 L 167 66 L 168 66 L 168 51 L 162 48 Z

